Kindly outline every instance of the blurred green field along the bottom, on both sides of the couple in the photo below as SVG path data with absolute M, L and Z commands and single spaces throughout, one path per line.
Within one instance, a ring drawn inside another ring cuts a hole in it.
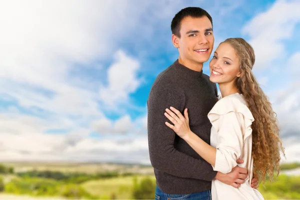
M 0 199 L 151 199 L 154 196 L 155 177 L 153 168 L 149 166 L 95 163 L 30 165 L 29 162 L 6 166 L 5 169 L 5 165 L 0 165 Z M 14 170 L 8 170 L 12 166 Z M 298 166 L 298 163 L 291 163 L 285 164 L 284 168 Z M 148 173 L 143 174 L 145 171 Z M 299 188 L 299 175 L 281 173 L 276 182 L 260 184 L 258 190 L 265 199 L 300 199 Z

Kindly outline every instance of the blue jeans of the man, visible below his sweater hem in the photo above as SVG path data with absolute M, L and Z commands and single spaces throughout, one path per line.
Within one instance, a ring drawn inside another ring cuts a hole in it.
M 210 189 L 206 191 L 189 194 L 167 194 L 157 186 L 155 190 L 155 200 L 211 200 Z

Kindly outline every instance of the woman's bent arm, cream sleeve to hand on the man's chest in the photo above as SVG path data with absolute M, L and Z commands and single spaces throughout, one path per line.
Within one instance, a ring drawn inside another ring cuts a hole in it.
M 187 109 L 184 109 L 184 117 L 175 108 L 166 109 L 165 116 L 174 125 L 165 122 L 178 136 L 183 138 L 203 159 L 209 162 L 213 169 L 222 173 L 228 173 L 237 165 L 243 143 L 242 130 L 239 118 L 235 112 L 220 115 L 219 129 L 217 133 L 216 148 L 210 146 L 193 133 L 188 125 Z

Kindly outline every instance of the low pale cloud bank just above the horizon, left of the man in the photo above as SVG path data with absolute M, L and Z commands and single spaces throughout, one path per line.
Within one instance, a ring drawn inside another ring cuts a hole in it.
M 67 134 L 45 134 L 45 127 L 53 127 L 56 123 L 26 115 L 7 117 L 3 114 L 0 119 L 4 122 L 0 126 L 1 160 L 148 160 L 145 135 L 99 139 L 86 137 L 89 130 L 79 127 L 74 127 Z M 123 125 L 126 120 L 126 117 L 120 119 L 119 124 Z M 60 125 L 64 128 L 63 123 Z

